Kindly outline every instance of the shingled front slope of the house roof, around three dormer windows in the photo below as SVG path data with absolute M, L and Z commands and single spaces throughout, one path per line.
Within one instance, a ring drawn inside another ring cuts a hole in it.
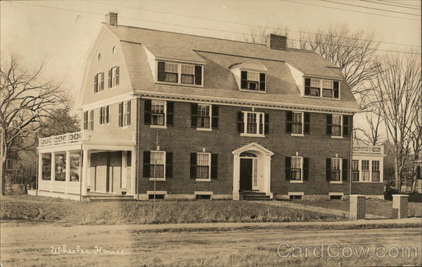
M 147 97 L 257 104 L 320 111 L 357 112 L 359 106 L 340 69 L 311 51 L 269 49 L 263 44 L 103 24 L 120 39 L 134 92 Z M 202 87 L 155 83 L 147 52 L 155 58 L 205 64 Z M 265 94 L 238 89 L 230 67 L 254 61 L 267 68 Z M 340 80 L 340 100 L 302 97 L 289 65 L 307 77 Z

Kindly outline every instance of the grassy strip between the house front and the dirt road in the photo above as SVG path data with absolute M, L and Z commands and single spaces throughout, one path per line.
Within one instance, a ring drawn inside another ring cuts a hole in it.
M 338 221 L 345 218 L 252 201 L 77 202 L 47 197 L 1 197 L 1 220 L 68 225 Z

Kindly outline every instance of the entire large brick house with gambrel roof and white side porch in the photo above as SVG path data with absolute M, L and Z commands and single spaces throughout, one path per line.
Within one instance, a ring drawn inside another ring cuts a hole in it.
M 77 99 L 84 130 L 40 139 L 38 194 L 383 195 L 382 157 L 368 166 L 357 157 L 359 175 L 350 177 L 359 106 L 321 56 L 277 35 L 249 44 L 106 19 Z

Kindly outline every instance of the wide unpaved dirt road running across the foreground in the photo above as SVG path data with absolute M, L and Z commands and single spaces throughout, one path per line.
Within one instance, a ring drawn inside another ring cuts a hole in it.
M 281 242 L 286 244 L 281 244 L 278 255 Z M 326 249 L 333 242 L 338 246 L 333 244 L 331 256 L 324 259 L 292 256 L 293 247 L 321 247 L 324 243 Z M 124 225 L 2 225 L 1 263 L 3 266 L 312 266 L 342 261 L 353 265 L 402 265 L 421 263 L 421 242 L 420 228 L 152 233 Z M 333 257 L 342 247 L 360 246 L 371 247 L 365 259 L 348 256 L 349 251 Z M 415 255 L 395 256 L 395 249 L 393 255 L 378 259 L 374 255 L 376 247 L 384 247 L 385 251 L 381 250 L 384 254 L 388 254 L 390 247 L 417 247 L 417 259 Z M 281 257 L 286 254 L 290 256 Z

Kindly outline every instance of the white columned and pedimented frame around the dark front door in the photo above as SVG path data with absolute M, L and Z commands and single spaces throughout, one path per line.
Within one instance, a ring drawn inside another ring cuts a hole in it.
M 243 152 L 250 152 L 257 156 L 257 180 L 259 184 L 252 187 L 253 189 L 259 190 L 259 192 L 264 192 L 265 194 L 272 197 L 271 194 L 271 156 L 274 155 L 274 152 L 269 151 L 265 147 L 262 147 L 260 144 L 252 142 L 245 145 L 239 149 L 232 151 L 234 155 L 234 164 L 233 164 L 233 199 L 239 200 L 239 190 L 240 190 L 240 168 L 241 168 L 241 154 Z

